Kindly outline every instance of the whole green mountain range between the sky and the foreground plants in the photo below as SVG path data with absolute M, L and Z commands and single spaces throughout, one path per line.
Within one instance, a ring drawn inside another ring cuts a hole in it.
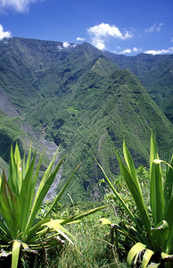
M 39 138 L 52 140 L 67 155 L 59 187 L 82 162 L 70 195 L 76 201 L 99 199 L 102 173 L 93 155 L 113 178 L 119 172 L 115 148 L 121 154 L 124 137 L 136 166 L 148 165 L 151 131 L 166 155 L 172 89 L 172 54 L 128 57 L 87 43 L 64 48 L 35 39 L 1 41 L 1 159 L 5 165 L 15 140 L 22 149 L 32 139 L 35 147 Z

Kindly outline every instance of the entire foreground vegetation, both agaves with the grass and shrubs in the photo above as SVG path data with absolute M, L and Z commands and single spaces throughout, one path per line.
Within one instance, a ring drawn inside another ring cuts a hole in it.
M 127 166 L 117 154 L 124 181 L 119 175 L 111 182 L 97 162 L 106 179 L 98 185 L 106 191 L 102 204 L 75 205 L 68 194 L 70 204 L 64 205 L 62 194 L 78 168 L 54 200 L 44 201 L 64 158 L 53 170 L 54 155 L 36 191 L 44 154 L 36 168 L 36 154 L 32 159 L 31 154 L 30 147 L 26 161 L 25 155 L 22 161 L 18 145 L 14 152 L 11 147 L 8 180 L 4 172 L 0 178 L 0 264 L 9 267 L 12 262 L 12 268 L 125 268 L 127 257 L 128 265 L 133 267 L 171 267 L 173 156 L 170 164 L 159 159 L 153 135 L 150 172 L 143 166 L 135 169 L 125 141 L 123 154 Z M 161 164 L 167 167 L 163 172 Z M 88 210 L 95 206 L 98 207 Z

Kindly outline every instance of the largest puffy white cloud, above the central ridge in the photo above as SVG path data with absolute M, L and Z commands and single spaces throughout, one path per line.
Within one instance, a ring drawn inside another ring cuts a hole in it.
M 94 27 L 90 27 L 87 29 L 87 32 L 91 36 L 93 45 L 101 50 L 105 48 L 104 43 L 106 41 L 106 38 L 111 37 L 125 40 L 127 38 L 133 37 L 133 35 L 127 30 L 122 33 L 115 25 L 110 25 L 108 23 L 101 23 L 95 25 Z

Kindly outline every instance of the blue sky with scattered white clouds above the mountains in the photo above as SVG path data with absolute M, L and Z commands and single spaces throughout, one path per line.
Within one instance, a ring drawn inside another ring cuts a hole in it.
M 0 40 L 86 41 L 116 54 L 173 54 L 172 0 L 0 0 Z

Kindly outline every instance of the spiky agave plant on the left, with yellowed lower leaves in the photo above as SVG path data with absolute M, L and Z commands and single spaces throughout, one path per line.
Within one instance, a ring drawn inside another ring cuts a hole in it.
M 21 250 L 36 251 L 44 247 L 51 247 L 62 242 L 59 236 L 68 239 L 73 247 L 75 247 L 72 241 L 74 239 L 73 236 L 63 225 L 77 222 L 82 216 L 103 209 L 103 207 L 96 208 L 84 214 L 74 215 L 66 220 L 53 220 L 50 218 L 54 205 L 62 197 L 63 192 L 78 169 L 77 167 L 60 193 L 55 197 L 53 204 L 45 212 L 44 217 L 42 219 L 37 217 L 45 195 L 62 165 L 64 157 L 53 169 L 57 154 L 58 150 L 46 169 L 36 191 L 38 173 L 44 153 L 41 155 L 35 168 L 36 153 L 31 159 L 31 147 L 26 161 L 25 156 L 23 161 L 21 161 L 17 144 L 14 152 L 11 148 L 8 180 L 4 172 L 2 178 L 0 177 L 0 247 L 2 249 L 0 256 L 4 255 L 4 253 L 6 255 L 12 254 L 12 268 L 17 268 Z

